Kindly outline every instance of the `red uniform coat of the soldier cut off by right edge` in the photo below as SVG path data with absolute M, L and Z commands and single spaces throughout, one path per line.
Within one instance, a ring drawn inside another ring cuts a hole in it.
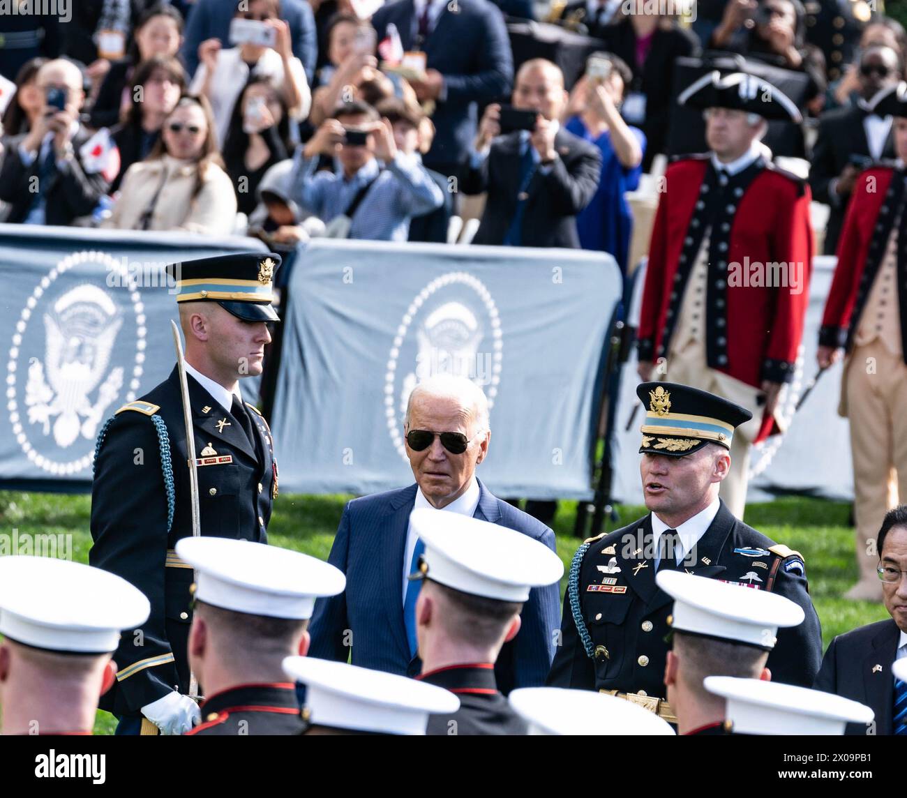
M 838 263 L 825 299 L 819 344 L 853 350 L 853 336 L 873 289 L 892 232 L 895 216 L 904 202 L 904 170 L 874 166 L 856 180 L 853 199 L 838 240 Z M 907 213 L 901 215 L 901 231 Z M 907 362 L 907 235 L 898 234 L 897 302 L 901 310 L 901 341 Z

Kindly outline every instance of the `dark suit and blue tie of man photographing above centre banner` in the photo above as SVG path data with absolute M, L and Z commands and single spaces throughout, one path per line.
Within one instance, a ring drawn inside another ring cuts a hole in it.
M 557 132 L 554 147 L 558 157 L 545 165 L 533 158 L 526 132 L 493 141 L 463 182 L 467 194 L 488 192 L 473 243 L 580 248 L 576 216 L 598 190 L 600 151 L 564 130 Z

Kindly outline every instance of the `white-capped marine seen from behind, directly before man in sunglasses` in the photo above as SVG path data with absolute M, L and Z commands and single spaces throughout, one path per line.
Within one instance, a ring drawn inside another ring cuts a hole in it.
M 432 715 L 428 734 L 526 734 L 498 690 L 494 663 L 520 631 L 530 589 L 561 579 L 561 558 L 522 532 L 453 512 L 414 510 L 410 524 L 425 545 L 410 578 L 424 580 L 415 604 L 417 678 L 460 698 L 456 712 Z

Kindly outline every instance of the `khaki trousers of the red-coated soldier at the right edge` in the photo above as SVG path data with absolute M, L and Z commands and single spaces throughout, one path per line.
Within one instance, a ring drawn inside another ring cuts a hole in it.
M 898 497 L 907 501 L 907 365 L 878 338 L 859 345 L 845 367 L 844 392 L 860 581 L 878 588 L 873 542 Z

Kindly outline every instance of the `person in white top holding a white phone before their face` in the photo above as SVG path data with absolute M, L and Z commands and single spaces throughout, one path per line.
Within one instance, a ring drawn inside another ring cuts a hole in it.
M 230 30 L 232 47 L 225 48 L 214 38 L 199 45 L 200 64 L 190 84 L 190 92 L 204 94 L 211 103 L 219 146 L 249 75 L 267 75 L 283 93 L 289 116 L 297 122 L 307 117 L 312 104 L 306 73 L 293 54 L 289 25 L 280 18 L 278 0 L 250 0 L 248 10 L 233 16 Z

